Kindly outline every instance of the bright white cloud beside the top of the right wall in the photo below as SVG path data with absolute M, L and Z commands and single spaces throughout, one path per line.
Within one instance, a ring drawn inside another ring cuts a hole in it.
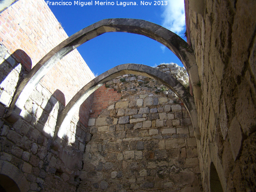
M 173 33 L 182 35 L 184 33 L 185 24 L 185 8 L 184 0 L 167 0 L 168 5 L 163 5 L 162 26 L 171 30 Z

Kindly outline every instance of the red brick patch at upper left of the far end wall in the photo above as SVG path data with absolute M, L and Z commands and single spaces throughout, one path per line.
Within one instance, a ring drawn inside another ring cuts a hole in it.
M 108 107 L 109 101 L 118 101 L 121 97 L 121 93 L 102 85 L 94 92 L 90 118 L 98 117 Z

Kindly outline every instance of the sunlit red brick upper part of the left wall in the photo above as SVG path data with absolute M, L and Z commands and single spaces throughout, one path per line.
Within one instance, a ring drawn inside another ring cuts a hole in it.
M 0 14 L 0 42 L 28 71 L 66 38 L 68 35 L 43 0 L 19 0 Z M 41 84 L 66 105 L 93 78 L 90 68 L 74 50 L 44 76 Z M 85 106 L 90 109 L 88 103 Z

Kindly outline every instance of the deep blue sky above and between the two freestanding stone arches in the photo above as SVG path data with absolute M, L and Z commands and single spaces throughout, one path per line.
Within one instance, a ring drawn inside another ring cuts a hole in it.
M 108 1 L 114 2 L 115 5 L 95 5 L 93 0 L 92 5 L 79 6 L 74 5 L 74 1 L 70 1 L 72 5 L 48 4 L 48 6 L 68 36 L 102 19 L 133 18 L 156 23 L 184 37 L 184 0 L 168 0 L 167 5 L 153 5 L 154 1 L 148 1 L 152 2 L 151 5 L 140 5 L 141 1 L 132 1 L 138 5 L 116 5 L 117 2 L 118 4 L 124 2 L 116 0 Z M 124 63 L 155 66 L 174 62 L 183 66 L 180 60 L 162 44 L 148 37 L 129 33 L 105 33 L 84 43 L 77 50 L 95 75 Z

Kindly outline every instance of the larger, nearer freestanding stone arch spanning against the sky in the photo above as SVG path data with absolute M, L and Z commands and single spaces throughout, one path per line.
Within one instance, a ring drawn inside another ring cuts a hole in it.
M 201 100 L 201 87 L 198 67 L 193 49 L 177 34 L 154 23 L 138 19 L 105 19 L 94 23 L 74 35 L 46 54 L 28 73 L 19 85 L 10 109 L 7 113 L 9 121 L 15 122 L 28 96 L 44 75 L 65 55 L 81 44 L 107 32 L 127 32 L 144 35 L 168 47 L 183 63 L 192 82 L 195 97 Z M 15 118 L 16 117 L 16 118 Z

